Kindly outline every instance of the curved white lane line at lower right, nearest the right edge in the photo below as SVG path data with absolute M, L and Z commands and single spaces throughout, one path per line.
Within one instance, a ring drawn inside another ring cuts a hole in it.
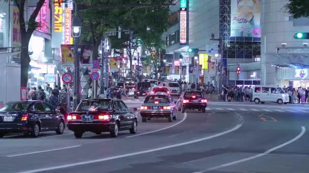
M 201 171 L 198 171 L 198 172 L 206 172 L 206 171 L 209 171 L 209 170 L 220 169 L 222 167 L 227 167 L 227 166 L 230 166 L 230 165 L 233 165 L 233 164 L 238 164 L 238 163 L 241 163 L 241 162 L 244 162 L 244 161 L 248 161 L 248 160 L 256 159 L 258 157 L 262 157 L 264 155 L 267 155 L 267 154 L 273 152 L 274 150 L 280 149 L 280 148 L 282 148 L 282 147 L 284 147 L 286 145 L 291 144 L 292 142 L 295 142 L 296 140 L 301 138 L 304 135 L 305 132 L 306 132 L 306 128 L 304 126 L 301 126 L 301 132 L 295 138 L 293 138 L 290 141 L 285 142 L 285 143 L 283 143 L 283 144 L 281 144 L 279 146 L 273 147 L 273 148 L 265 151 L 264 153 L 260 153 L 260 154 L 257 154 L 257 155 L 251 156 L 251 157 L 247 157 L 247 158 L 244 158 L 244 159 L 240 159 L 240 160 L 232 161 L 232 162 L 229 162 L 229 163 L 225 163 L 225 164 L 222 164 L 222 165 L 219 165 L 219 166 L 211 167 L 211 168 L 208 168 L 206 170 L 201 170 Z

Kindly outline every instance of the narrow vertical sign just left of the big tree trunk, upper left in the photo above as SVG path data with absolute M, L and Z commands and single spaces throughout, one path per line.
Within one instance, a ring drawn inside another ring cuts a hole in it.
M 18 7 L 13 7 L 13 45 L 21 46 L 21 34 L 19 25 L 19 9 Z

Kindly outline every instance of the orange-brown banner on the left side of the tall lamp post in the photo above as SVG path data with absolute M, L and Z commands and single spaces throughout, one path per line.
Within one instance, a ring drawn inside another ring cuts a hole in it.
M 74 66 L 73 45 L 61 45 L 61 64 L 65 67 Z

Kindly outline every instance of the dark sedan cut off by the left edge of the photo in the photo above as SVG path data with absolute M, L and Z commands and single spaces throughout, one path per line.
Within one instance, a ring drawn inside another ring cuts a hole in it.
M 42 101 L 9 102 L 0 109 L 0 137 L 24 133 L 37 138 L 40 132 L 56 131 L 59 135 L 64 130 L 64 115 Z

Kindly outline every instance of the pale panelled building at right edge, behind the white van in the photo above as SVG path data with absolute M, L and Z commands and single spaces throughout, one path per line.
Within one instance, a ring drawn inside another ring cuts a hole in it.
M 309 19 L 293 19 L 285 0 L 261 2 L 261 83 L 281 86 L 309 86 L 307 39 L 295 39 L 297 32 L 309 32 Z

